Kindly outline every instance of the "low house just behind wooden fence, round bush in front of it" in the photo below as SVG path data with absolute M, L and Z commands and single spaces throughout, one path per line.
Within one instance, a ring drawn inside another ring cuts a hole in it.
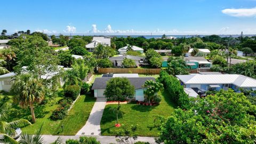
M 139 57 L 139 56 L 133 56 L 133 55 L 122 55 L 118 57 L 111 57 L 108 59 L 113 63 L 115 67 L 121 67 L 124 58 L 134 60 L 137 66 L 140 66 L 140 64 L 143 64 L 143 61 L 145 60 L 145 57 Z

